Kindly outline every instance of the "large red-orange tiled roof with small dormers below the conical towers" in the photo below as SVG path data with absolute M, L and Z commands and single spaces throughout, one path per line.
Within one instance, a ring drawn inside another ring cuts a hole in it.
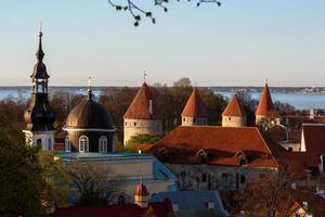
M 174 164 L 199 164 L 197 153 L 207 154 L 208 165 L 237 166 L 239 154 L 248 167 L 277 167 L 286 152 L 280 144 L 265 140 L 256 127 L 180 126 L 151 149 L 161 161 Z

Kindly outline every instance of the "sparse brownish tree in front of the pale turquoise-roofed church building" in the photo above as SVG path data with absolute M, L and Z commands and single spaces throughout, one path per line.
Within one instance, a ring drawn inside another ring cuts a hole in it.
M 78 159 L 68 168 L 77 205 L 108 204 L 121 193 L 118 177 L 109 177 L 105 165 Z

